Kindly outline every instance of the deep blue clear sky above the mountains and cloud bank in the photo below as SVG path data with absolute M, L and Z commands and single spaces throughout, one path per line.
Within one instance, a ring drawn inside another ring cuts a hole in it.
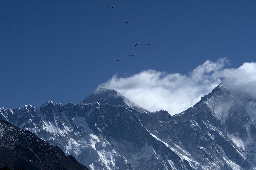
M 0 107 L 77 104 L 114 74 L 188 74 L 222 57 L 234 68 L 255 62 L 255 7 L 256 1 L 1 0 Z

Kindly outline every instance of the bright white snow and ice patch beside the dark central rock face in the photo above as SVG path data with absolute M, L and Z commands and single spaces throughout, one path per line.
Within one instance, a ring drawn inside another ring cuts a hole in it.
M 110 143 L 100 141 L 93 130 L 88 127 L 84 117 L 74 117 L 72 122 L 77 127 L 82 127 L 87 132 L 87 135 L 79 140 L 70 138 L 65 152 L 75 156 L 80 163 L 88 165 L 92 170 L 117 169 L 115 159 L 117 157 L 123 158 L 124 156 L 116 153 Z

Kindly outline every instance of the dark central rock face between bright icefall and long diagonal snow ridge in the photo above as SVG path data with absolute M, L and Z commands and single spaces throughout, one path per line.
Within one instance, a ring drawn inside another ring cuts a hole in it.
M 135 110 L 110 104 L 100 108 L 102 111 L 91 118 L 89 126 L 124 155 L 134 169 L 171 169 L 172 166 L 193 169 L 188 161 L 141 125 L 140 119 L 133 114 Z

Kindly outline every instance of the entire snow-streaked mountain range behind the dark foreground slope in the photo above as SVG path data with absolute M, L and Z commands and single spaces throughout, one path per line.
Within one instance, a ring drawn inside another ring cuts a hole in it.
M 90 169 L 253 169 L 253 102 L 220 84 L 195 106 L 171 116 L 100 88 L 77 105 L 48 101 L 38 109 L 1 108 L 0 117 Z

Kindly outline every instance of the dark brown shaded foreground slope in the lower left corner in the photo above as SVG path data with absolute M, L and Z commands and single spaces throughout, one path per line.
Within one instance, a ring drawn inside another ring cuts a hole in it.
M 73 156 L 0 119 L 0 167 L 25 169 L 88 169 Z M 89 169 L 88 169 L 89 170 Z

